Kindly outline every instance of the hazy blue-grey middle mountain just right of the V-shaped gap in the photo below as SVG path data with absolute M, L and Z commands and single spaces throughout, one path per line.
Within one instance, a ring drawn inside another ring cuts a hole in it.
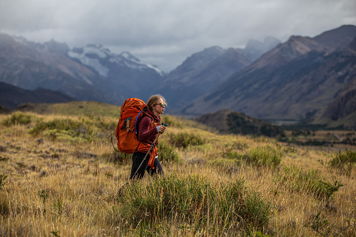
M 204 49 L 173 70 L 157 92 L 164 92 L 172 110 L 203 95 L 250 63 L 250 58 L 241 50 L 224 50 L 220 47 Z

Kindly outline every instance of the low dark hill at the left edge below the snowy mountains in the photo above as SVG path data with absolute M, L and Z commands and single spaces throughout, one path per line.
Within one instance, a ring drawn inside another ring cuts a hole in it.
M 59 103 L 74 100 L 75 98 L 58 91 L 43 88 L 31 91 L 0 82 L 0 105 L 10 109 L 22 103 Z

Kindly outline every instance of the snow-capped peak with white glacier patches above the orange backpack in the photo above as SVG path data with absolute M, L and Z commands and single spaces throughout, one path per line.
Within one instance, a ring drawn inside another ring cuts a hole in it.
M 129 52 L 115 54 L 102 45 L 73 48 L 67 56 L 97 72 L 112 87 L 124 90 L 132 97 L 146 99 L 152 94 L 150 89 L 165 76 L 160 68 L 144 63 Z

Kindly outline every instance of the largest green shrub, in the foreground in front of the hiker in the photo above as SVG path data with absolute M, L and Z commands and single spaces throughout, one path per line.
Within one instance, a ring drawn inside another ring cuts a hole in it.
M 119 199 L 125 210 L 121 215 L 135 224 L 161 219 L 174 222 L 168 225 L 178 221 L 196 229 L 209 225 L 226 230 L 240 222 L 241 227 L 262 230 L 272 217 L 271 203 L 248 189 L 244 179 L 218 185 L 201 176 L 167 173 L 148 183 L 130 183 Z

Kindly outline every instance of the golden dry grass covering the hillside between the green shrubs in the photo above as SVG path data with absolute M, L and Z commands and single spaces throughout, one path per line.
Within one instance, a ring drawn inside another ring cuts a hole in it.
M 46 122 L 58 118 L 83 119 L 32 115 Z M 9 116 L 0 115 L 0 121 Z M 101 119 L 115 123 L 115 118 Z M 273 216 L 268 226 L 261 232 L 252 232 L 252 236 L 321 236 L 305 226 L 319 211 L 329 221 L 328 226 L 332 224 L 329 236 L 356 236 L 356 168 L 349 177 L 326 165 L 337 147 L 288 150 L 286 145 L 271 138 L 219 135 L 202 130 L 203 127 L 189 120 L 169 119 L 176 122 L 176 126 L 168 127 L 160 140 L 167 140 L 170 133 L 186 131 L 198 134 L 206 143 L 186 149 L 176 147 L 182 162 L 162 161 L 164 172 L 182 176 L 199 174 L 217 185 L 244 177 L 248 187 L 258 188 L 261 197 L 271 201 Z M 128 158 L 122 166 L 110 162 L 108 156 L 114 154 L 110 135 L 90 142 L 51 139 L 30 135 L 28 129 L 33 126 L 35 122 L 0 125 L 0 174 L 7 175 L 0 190 L 0 236 L 233 236 L 242 233 L 238 227 L 227 232 L 204 228 L 193 231 L 178 225 L 167 226 L 171 223 L 167 220 L 156 220 L 155 225 L 142 231 L 120 213 L 122 203 L 117 201 L 116 194 L 129 177 L 131 160 Z M 237 165 L 235 161 L 216 165 L 215 161 L 223 158 L 224 149 L 232 144 L 245 144 L 241 152 L 266 145 L 281 149 L 281 164 L 276 169 Z M 337 180 L 344 185 L 336 192 L 330 208 L 323 208 L 323 201 L 310 195 L 308 190 L 294 192 L 277 187 L 276 174 L 282 166 L 289 165 L 317 169 L 330 182 Z M 147 182 L 146 175 L 140 183 Z M 45 204 L 39 194 L 41 190 L 48 193 Z

